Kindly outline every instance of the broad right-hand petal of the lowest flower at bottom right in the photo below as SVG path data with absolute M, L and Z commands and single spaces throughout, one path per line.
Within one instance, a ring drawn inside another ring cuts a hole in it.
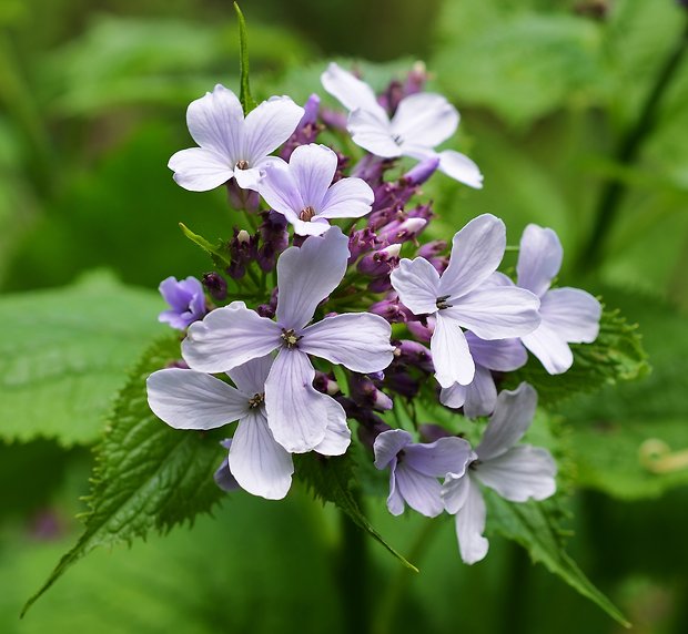
M 557 490 L 557 466 L 542 447 L 523 444 L 480 462 L 475 477 L 512 502 L 545 500 Z

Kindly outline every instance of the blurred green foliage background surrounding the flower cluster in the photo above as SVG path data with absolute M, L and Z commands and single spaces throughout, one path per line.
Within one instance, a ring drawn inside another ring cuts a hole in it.
M 688 9 L 671 0 L 242 8 L 260 99 L 303 102 L 321 91 L 330 59 L 357 60 L 380 89 L 424 60 L 429 89 L 462 113 L 455 146 L 485 175 L 480 192 L 441 176 L 428 184 L 436 237 L 484 212 L 505 219 L 509 244 L 529 222 L 550 226 L 565 246 L 560 282 L 639 323 L 652 374 L 559 411 L 574 464 L 569 549 L 635 632 L 688 632 Z M 231 212 L 222 191 L 178 187 L 166 162 L 192 144 L 188 103 L 217 82 L 239 85 L 231 3 L 1 0 L 0 29 L 0 292 L 103 268 L 150 289 L 169 275 L 200 277 L 209 263 L 178 223 L 223 236 Z M 299 489 L 277 503 L 235 494 L 191 531 L 95 552 L 20 622 L 80 533 L 74 515 L 100 433 L 92 426 L 58 441 L 21 425 L 0 426 L 0 632 L 355 631 L 358 606 L 343 584 L 361 580 L 337 559 L 337 514 Z M 648 439 L 672 460 L 650 469 Z M 493 538 L 487 560 L 468 567 L 448 519 L 428 531 L 421 518 L 387 517 L 383 499 L 367 507 L 422 569 L 412 577 L 367 544 L 376 633 L 623 631 L 512 543 Z

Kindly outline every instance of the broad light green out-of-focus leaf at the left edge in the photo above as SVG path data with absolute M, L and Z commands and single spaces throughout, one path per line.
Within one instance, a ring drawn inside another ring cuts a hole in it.
M 90 443 L 127 370 L 164 327 L 154 290 L 107 273 L 0 299 L 0 436 Z

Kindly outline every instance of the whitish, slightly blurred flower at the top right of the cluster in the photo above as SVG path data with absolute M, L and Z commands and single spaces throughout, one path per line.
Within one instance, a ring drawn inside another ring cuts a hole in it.
M 373 89 L 334 62 L 321 75 L 325 90 L 350 111 L 347 130 L 354 143 L 391 158 L 439 158 L 438 170 L 471 187 L 483 186 L 478 166 L 454 150 L 435 147 L 456 132 L 457 110 L 441 94 L 419 92 L 402 99 L 389 119 Z

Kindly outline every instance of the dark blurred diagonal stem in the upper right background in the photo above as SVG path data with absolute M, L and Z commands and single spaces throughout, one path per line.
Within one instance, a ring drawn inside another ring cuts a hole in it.
M 640 115 L 626 134 L 621 137 L 615 161 L 619 165 L 633 164 L 643 146 L 643 142 L 650 135 L 657 124 L 657 112 L 661 98 L 671 84 L 688 49 L 688 21 L 681 31 L 680 38 L 655 79 L 652 89 L 648 93 L 640 110 Z M 595 211 L 595 225 L 587 244 L 584 245 L 579 266 L 583 270 L 594 269 L 601 259 L 601 252 L 618 215 L 620 204 L 626 194 L 626 183 L 617 177 L 610 177 L 600 193 Z

